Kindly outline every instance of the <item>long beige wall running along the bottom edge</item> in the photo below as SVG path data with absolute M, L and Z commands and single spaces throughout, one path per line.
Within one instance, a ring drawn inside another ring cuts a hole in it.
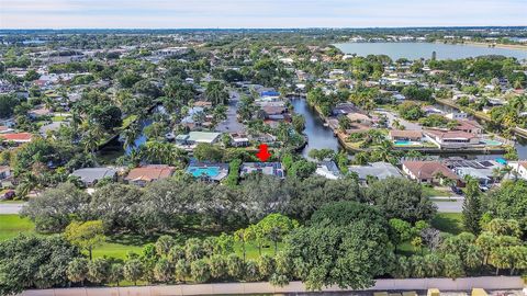
M 464 278 L 408 278 L 378 280 L 368 291 L 470 291 L 474 287 L 484 289 L 522 289 L 524 282 L 519 276 L 483 276 Z M 327 287 L 323 292 L 346 292 L 338 287 Z M 269 283 L 224 283 L 201 285 L 167 285 L 137 287 L 93 287 L 93 288 L 55 288 L 32 289 L 19 296 L 190 296 L 190 295 L 240 295 L 240 294 L 282 294 L 304 293 L 301 282 L 291 282 L 284 287 L 274 287 Z

